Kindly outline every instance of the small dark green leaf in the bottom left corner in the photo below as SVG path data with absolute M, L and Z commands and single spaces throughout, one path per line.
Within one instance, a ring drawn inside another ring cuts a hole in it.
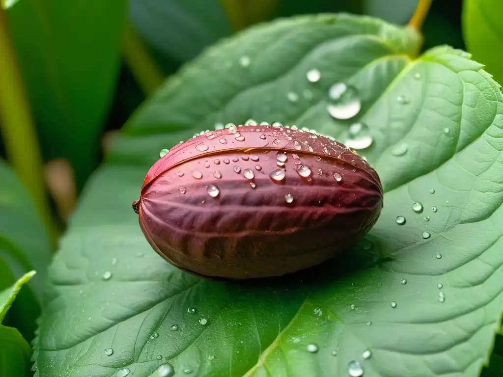
M 0 325 L 0 375 L 30 376 L 31 348 L 18 330 Z

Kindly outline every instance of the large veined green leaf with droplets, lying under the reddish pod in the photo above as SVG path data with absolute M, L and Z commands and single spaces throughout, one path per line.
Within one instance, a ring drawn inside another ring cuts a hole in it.
M 165 363 L 177 375 L 344 376 L 353 360 L 365 376 L 477 376 L 503 299 L 503 96 L 466 53 L 416 58 L 419 45 L 412 31 L 368 17 L 298 17 L 226 40 L 168 80 L 128 122 L 61 242 L 39 377 L 146 377 Z M 326 111 L 338 82 L 358 88 L 353 120 Z M 255 284 L 188 275 L 148 246 L 131 202 L 159 150 L 248 118 L 343 141 L 352 122 L 368 125 L 373 144 L 360 154 L 386 193 L 360 245 Z

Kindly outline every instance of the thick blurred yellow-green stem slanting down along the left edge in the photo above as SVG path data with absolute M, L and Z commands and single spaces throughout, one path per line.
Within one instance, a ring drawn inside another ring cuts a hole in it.
M 57 229 L 47 204 L 42 158 L 30 107 L 26 99 L 7 15 L 0 6 L 0 131 L 7 158 L 31 194 L 55 244 Z

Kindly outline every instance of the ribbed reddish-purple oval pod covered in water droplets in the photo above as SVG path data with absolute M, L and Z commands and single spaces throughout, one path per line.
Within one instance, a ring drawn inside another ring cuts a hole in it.
M 271 177 L 277 169 L 283 179 Z M 148 171 L 133 208 L 150 245 L 175 266 L 246 279 L 298 271 L 355 245 L 382 198 L 375 170 L 343 144 L 238 126 L 172 148 Z

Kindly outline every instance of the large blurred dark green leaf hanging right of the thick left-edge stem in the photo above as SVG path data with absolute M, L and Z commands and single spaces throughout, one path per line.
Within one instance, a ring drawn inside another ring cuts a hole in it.
M 124 12 L 124 0 L 29 0 L 7 12 L 44 157 L 68 159 L 78 187 L 98 161 Z

